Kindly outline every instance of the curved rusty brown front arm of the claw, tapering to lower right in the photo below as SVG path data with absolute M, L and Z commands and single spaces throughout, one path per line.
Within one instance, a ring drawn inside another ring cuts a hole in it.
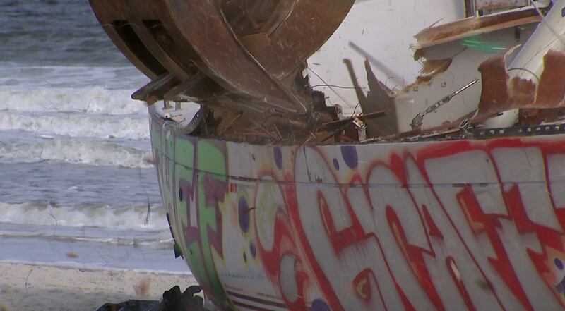
M 220 85 L 236 94 L 263 99 L 264 104 L 282 111 L 306 113 L 307 104 L 268 73 L 239 42 L 216 2 L 165 0 L 184 39 Z

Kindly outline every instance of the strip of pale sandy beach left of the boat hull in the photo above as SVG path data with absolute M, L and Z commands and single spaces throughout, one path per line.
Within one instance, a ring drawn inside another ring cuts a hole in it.
M 130 299 L 160 300 L 189 274 L 0 263 L 0 311 L 88 311 Z M 4 309 L 3 309 L 4 308 Z

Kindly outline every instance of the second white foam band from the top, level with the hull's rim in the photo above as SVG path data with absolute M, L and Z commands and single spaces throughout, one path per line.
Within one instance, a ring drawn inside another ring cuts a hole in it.
M 85 138 L 149 139 L 147 118 L 100 114 L 0 111 L 0 130 L 24 130 Z

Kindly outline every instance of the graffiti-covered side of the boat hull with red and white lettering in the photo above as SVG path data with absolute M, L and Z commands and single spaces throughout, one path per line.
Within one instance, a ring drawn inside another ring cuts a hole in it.
M 563 310 L 565 137 L 269 147 L 153 120 L 172 233 L 224 310 Z

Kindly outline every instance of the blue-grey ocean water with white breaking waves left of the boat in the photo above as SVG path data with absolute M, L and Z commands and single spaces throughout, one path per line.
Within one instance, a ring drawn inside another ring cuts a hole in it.
M 2 0 L 0 25 L 0 261 L 188 273 L 130 99 L 148 79 L 87 0 Z

